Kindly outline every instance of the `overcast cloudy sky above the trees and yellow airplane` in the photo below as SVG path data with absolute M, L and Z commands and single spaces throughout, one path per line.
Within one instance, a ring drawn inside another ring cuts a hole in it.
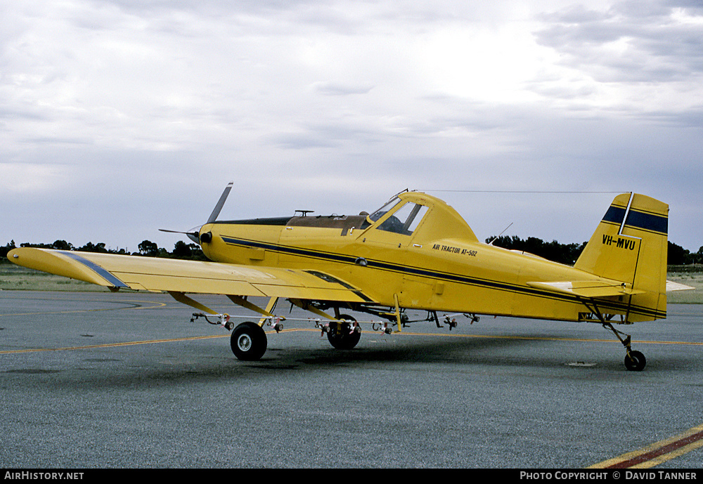
M 409 188 L 479 239 L 588 240 L 616 192 L 703 245 L 699 0 L 0 0 L 0 244 L 172 249 Z

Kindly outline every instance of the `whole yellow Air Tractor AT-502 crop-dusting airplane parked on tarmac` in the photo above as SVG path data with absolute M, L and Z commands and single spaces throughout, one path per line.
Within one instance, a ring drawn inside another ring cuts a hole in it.
M 596 322 L 622 342 L 633 370 L 645 357 L 614 325 L 666 318 L 669 207 L 644 195 L 615 197 L 571 267 L 479 242 L 454 209 L 421 192 L 401 192 L 370 215 L 217 221 L 231 186 L 207 223 L 186 233 L 212 262 L 34 248 L 8 259 L 112 290 L 168 292 L 233 328 L 240 360 L 264 355 L 263 326 L 285 320 L 275 313 L 280 298 L 314 313 L 344 349 L 356 346 L 363 324 L 346 310 L 380 318 L 370 328 L 387 333 L 402 331 L 408 309 L 427 310 L 437 326 L 437 311 Z M 235 327 L 193 294 L 224 294 L 262 318 Z

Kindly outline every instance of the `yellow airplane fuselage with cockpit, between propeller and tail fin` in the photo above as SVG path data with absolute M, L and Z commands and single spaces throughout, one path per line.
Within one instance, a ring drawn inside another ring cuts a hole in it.
M 430 195 L 406 192 L 390 205 L 370 216 L 209 223 L 200 229 L 209 240 L 202 249 L 212 261 L 319 270 L 363 288 L 380 306 L 397 299 L 402 308 L 555 320 L 588 313 L 576 296 L 527 283 L 595 275 L 479 242 L 456 211 Z M 601 309 L 625 314 L 625 299 L 607 298 Z

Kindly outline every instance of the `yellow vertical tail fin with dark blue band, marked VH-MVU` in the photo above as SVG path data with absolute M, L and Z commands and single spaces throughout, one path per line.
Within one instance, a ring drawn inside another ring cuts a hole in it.
M 632 284 L 645 292 L 631 301 L 651 315 L 642 319 L 664 318 L 668 226 L 669 205 L 637 193 L 618 195 L 574 267 Z

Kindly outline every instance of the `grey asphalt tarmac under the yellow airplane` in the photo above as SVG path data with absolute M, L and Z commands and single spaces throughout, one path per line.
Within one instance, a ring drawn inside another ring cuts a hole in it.
M 286 321 L 241 362 L 192 313 L 165 294 L 0 292 L 0 466 L 576 469 L 703 424 L 702 306 L 620 328 L 643 372 L 599 325 L 491 317 L 364 327 L 351 351 Z M 647 462 L 700 468 L 689 440 Z

